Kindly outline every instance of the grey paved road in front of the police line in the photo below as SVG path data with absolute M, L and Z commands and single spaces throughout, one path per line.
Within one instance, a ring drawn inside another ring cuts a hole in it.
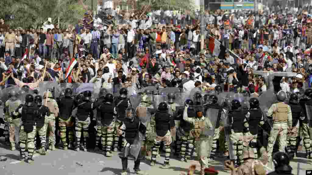
M 1 175 L 25 175 L 36 173 L 43 175 L 80 175 L 88 173 L 90 175 L 115 175 L 121 173 L 121 162 L 118 157 L 119 153 L 114 153 L 114 156 L 107 158 L 100 154 L 101 152 L 76 152 L 73 150 L 49 151 L 45 156 L 35 154 L 34 163 L 28 164 L 26 162 L 17 161 L 19 157 L 18 151 L 10 151 L 8 147 L 0 146 L 0 155 L 7 157 L 5 162 L 0 162 Z M 303 155 L 300 155 L 303 156 Z M 154 167 L 149 166 L 149 161 L 141 162 L 141 169 L 149 175 L 179 175 L 180 172 L 186 172 L 190 164 L 197 164 L 199 174 L 199 164 L 197 161 L 191 160 L 189 163 L 180 162 L 176 159 L 171 159 L 171 167 L 168 169 L 162 168 L 164 155 L 157 159 L 158 163 Z M 219 170 L 220 175 L 230 174 L 227 169 L 224 169 L 224 158 L 218 158 L 219 161 L 212 164 L 216 170 Z M 300 163 L 302 171 L 299 173 L 305 175 L 305 170 L 312 169 L 312 160 L 305 158 L 295 158 L 291 162 L 294 174 L 297 174 L 297 163 Z M 80 164 L 80 165 L 79 165 Z M 81 166 L 82 165 L 82 166 Z M 129 160 L 128 165 L 130 172 L 134 174 L 134 162 Z

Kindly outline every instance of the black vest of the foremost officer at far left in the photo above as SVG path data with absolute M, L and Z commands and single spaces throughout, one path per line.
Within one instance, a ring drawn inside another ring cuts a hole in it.
M 32 132 L 37 115 L 38 109 L 35 106 L 24 105 L 22 107 L 22 122 L 26 133 Z

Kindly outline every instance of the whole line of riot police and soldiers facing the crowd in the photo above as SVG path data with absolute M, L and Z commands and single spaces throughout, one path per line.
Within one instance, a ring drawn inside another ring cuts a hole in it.
M 139 166 L 143 152 L 146 151 L 151 151 L 150 165 L 154 166 L 162 142 L 165 148 L 165 167 L 169 167 L 171 145 L 174 142 L 175 154 L 181 161 L 187 162 L 196 150 L 203 175 L 209 161 L 217 154 L 221 122 L 225 130 L 225 147 L 232 162 L 226 162 L 229 167 L 231 164 L 235 167 L 243 165 L 248 158 L 258 158 L 261 165 L 270 162 L 277 137 L 279 151 L 294 158 L 301 140 L 298 134 L 301 130 L 306 158 L 312 158 L 309 116 L 312 109 L 311 89 L 307 89 L 305 96 L 300 99 L 297 94 L 291 94 L 287 103 L 287 94 L 278 92 L 278 102 L 273 103 L 266 113 L 261 111 L 257 98 L 250 98 L 249 108 L 243 108 L 238 99 L 227 97 L 220 100 L 225 93 L 221 86 L 205 96 L 196 92 L 192 99 L 183 100 L 182 108 L 175 102 L 174 93 L 168 93 L 168 104 L 159 102 L 157 106 L 153 103 L 149 90 L 138 96 L 138 105 L 131 104 L 125 88 L 120 90 L 120 95 L 116 98 L 103 88 L 94 102 L 91 101 L 90 91 L 82 92 L 75 98 L 72 93 L 71 88 L 66 88 L 56 99 L 49 91 L 43 97 L 36 95 L 37 93 L 34 93 L 35 97 L 27 94 L 22 104 L 15 90 L 9 92 L 4 108 L 5 121 L 9 126 L 8 141 L 11 149 L 15 150 L 14 128 L 20 127 L 21 160 L 31 163 L 35 149 L 40 154 L 46 154 L 47 128 L 52 128 L 48 132 L 49 149 L 55 150 L 53 129 L 56 117 L 64 150 L 87 151 L 88 142 L 95 142 L 95 150 L 102 149 L 107 157 L 112 156 L 112 151 L 122 150 L 122 175 L 127 174 L 129 156 L 134 157 L 135 173 L 142 174 Z M 266 118 L 273 123 L 268 124 Z M 178 125 L 176 121 L 179 121 Z M 266 125 L 269 130 L 264 129 Z M 89 137 L 89 134 L 92 135 L 89 127 L 96 128 L 93 133 L 95 140 Z M 258 136 L 263 130 L 269 134 L 267 148 Z M 36 143 L 37 135 L 40 145 Z M 136 146 L 131 146 L 134 144 Z M 131 150 L 134 148 L 138 150 Z M 280 157 L 283 156 L 285 157 Z

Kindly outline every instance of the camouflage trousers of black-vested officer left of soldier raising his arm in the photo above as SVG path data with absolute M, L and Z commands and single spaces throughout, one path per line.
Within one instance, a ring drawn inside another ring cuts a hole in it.
M 170 154 L 171 154 L 170 144 L 172 142 L 171 133 L 169 130 L 167 131 L 166 135 L 164 136 L 157 135 L 156 139 L 154 139 L 151 162 L 156 162 L 157 151 L 159 150 L 161 142 L 163 142 L 163 144 L 165 145 L 165 149 L 166 149 L 164 163 L 168 164 L 170 160 Z

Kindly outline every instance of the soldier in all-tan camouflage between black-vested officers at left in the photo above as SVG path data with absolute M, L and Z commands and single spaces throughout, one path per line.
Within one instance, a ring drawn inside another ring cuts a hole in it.
M 46 116 L 45 130 L 49 129 L 49 149 L 55 149 L 55 118 L 58 117 L 59 108 L 56 100 L 52 99 L 52 93 L 48 93 L 48 98 L 46 98 L 46 92 L 43 95 L 44 101 L 43 104 L 47 106 L 50 110 L 50 116 Z

